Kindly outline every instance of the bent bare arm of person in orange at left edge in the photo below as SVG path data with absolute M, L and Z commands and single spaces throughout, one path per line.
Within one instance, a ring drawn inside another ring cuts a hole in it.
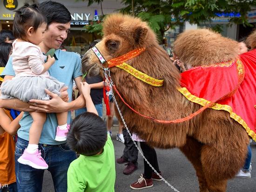
M 20 128 L 19 121 L 22 116 L 23 112 L 21 112 L 20 115 L 12 121 L 4 110 L 0 108 L 0 126 L 10 135 L 15 135 Z

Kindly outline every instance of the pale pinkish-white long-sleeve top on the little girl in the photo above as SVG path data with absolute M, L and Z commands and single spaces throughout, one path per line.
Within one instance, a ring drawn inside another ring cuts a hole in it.
M 46 56 L 43 55 L 39 46 L 30 42 L 15 40 L 13 42 L 12 58 L 15 77 L 49 77 L 48 72 L 42 73 Z

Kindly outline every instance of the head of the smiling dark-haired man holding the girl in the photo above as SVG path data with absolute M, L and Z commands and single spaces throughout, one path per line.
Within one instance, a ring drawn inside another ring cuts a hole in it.
M 61 3 L 45 1 L 38 5 L 47 18 L 47 30 L 44 33 L 43 47 L 59 49 L 70 30 L 71 14 Z

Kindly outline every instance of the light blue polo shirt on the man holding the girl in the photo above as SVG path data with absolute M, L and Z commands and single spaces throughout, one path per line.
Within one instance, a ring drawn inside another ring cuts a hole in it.
M 78 54 L 73 52 L 64 52 L 60 49 L 55 51 L 55 63 L 50 67 L 48 72 L 51 76 L 65 83 L 68 86 L 67 92 L 69 102 L 72 100 L 73 79 L 82 75 L 81 72 L 81 58 Z M 1 76 L 12 75 L 15 76 L 12 66 L 12 57 L 7 62 L 7 65 L 1 73 Z M 34 87 L 36 89 L 36 87 Z M 32 117 L 28 112 L 25 112 L 22 119 L 20 119 L 20 129 L 18 136 L 21 139 L 29 140 L 29 128 L 33 122 Z M 67 124 L 71 122 L 71 113 L 68 112 Z M 44 124 L 40 141 L 41 144 L 60 145 L 66 141 L 55 141 L 56 127 L 58 126 L 55 113 L 47 113 L 47 119 Z

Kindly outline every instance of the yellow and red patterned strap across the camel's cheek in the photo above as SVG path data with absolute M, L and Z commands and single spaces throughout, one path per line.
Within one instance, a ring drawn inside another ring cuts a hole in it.
M 145 83 L 148 83 L 152 86 L 162 86 L 163 85 L 163 79 L 155 79 L 153 77 L 148 76 L 145 73 L 142 73 L 138 71 L 137 69 L 133 68 L 132 66 L 128 65 L 127 63 L 122 63 L 120 65 L 117 65 L 116 67 L 126 71 L 127 73 L 130 73 L 131 75 L 135 76 L 137 79 L 140 79 L 144 81 Z

